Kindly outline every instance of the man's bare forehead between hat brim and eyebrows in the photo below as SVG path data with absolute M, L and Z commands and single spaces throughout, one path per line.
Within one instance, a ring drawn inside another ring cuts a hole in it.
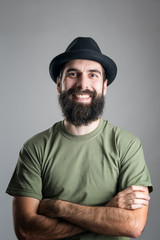
M 98 62 L 91 61 L 91 60 L 84 60 L 84 59 L 74 59 L 67 62 L 64 66 L 64 71 L 69 68 L 75 68 L 79 71 L 87 71 L 87 70 L 102 70 L 102 65 Z

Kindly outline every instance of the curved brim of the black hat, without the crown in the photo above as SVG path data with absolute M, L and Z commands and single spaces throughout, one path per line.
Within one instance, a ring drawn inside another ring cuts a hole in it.
M 111 58 L 93 50 L 74 50 L 70 52 L 64 52 L 53 58 L 51 61 L 49 65 L 49 73 L 55 83 L 57 82 L 57 77 L 59 76 L 64 64 L 73 59 L 86 59 L 100 63 L 106 73 L 106 79 L 108 80 L 107 85 L 110 85 L 117 75 L 117 66 Z

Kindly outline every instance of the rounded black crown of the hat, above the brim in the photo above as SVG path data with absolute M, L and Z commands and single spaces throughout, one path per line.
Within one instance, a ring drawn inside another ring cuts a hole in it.
M 67 47 L 66 52 L 92 50 L 101 53 L 98 44 L 90 37 L 77 37 Z

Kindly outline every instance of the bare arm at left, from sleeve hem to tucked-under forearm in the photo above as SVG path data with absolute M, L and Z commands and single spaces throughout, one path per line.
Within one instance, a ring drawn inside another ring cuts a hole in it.
M 42 204 L 44 205 L 46 207 L 46 204 Z M 41 204 L 37 199 L 14 197 L 14 228 L 19 240 L 62 239 L 84 232 L 83 229 L 66 220 L 43 216 L 40 211 L 38 214 L 39 206 Z

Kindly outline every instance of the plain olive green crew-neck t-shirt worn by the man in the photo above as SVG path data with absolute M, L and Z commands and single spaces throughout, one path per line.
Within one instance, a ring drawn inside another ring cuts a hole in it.
M 28 140 L 6 192 L 103 206 L 131 185 L 148 186 L 152 191 L 140 140 L 101 119 L 86 135 L 73 135 L 58 122 Z M 70 239 L 128 238 L 83 233 Z

